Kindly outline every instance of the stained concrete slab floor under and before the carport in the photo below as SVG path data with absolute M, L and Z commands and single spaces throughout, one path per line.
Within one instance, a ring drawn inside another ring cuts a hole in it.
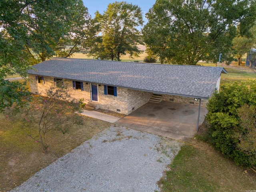
M 203 123 L 207 109 L 201 107 L 199 125 Z M 196 133 L 198 106 L 165 102 L 148 102 L 116 124 L 136 130 L 176 139 L 186 140 Z

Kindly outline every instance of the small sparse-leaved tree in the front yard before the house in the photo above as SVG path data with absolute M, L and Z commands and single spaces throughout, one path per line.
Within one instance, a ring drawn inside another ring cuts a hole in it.
M 50 147 L 49 139 L 46 137 L 48 132 L 58 130 L 65 134 L 70 124 L 83 124 L 82 118 L 75 113 L 80 109 L 79 102 L 67 101 L 70 94 L 66 87 L 51 86 L 46 90 L 46 95 L 48 97 L 35 97 L 21 111 L 24 116 L 21 124 L 24 133 L 42 144 L 44 151 Z M 38 131 L 34 134 L 32 130 Z

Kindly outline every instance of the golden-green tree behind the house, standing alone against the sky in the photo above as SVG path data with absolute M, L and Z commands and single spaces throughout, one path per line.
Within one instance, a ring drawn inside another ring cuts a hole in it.
M 108 5 L 104 14 L 96 12 L 95 18 L 102 37 L 91 50 L 92 55 L 118 61 L 127 53 L 131 57 L 138 56 L 137 44 L 142 41 L 137 28 L 143 24 L 140 7 L 124 1 L 114 2 Z

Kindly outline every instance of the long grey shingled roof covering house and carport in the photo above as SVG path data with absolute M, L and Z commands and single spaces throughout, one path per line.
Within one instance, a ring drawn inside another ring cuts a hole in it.
M 74 58 L 52 58 L 33 68 L 29 74 L 202 99 L 211 96 L 220 74 L 227 73 L 220 67 Z

